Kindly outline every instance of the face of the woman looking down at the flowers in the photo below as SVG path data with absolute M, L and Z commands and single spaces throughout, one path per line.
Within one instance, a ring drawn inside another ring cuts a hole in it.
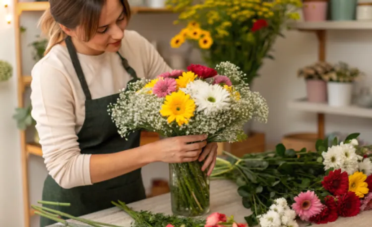
M 88 41 L 79 41 L 85 49 L 84 52 L 91 55 L 102 54 L 103 52 L 117 52 L 122 46 L 124 29 L 127 19 L 124 13 L 124 6 L 120 0 L 107 0 L 102 8 L 98 29 L 96 34 Z M 78 26 L 75 29 L 76 36 L 83 32 Z

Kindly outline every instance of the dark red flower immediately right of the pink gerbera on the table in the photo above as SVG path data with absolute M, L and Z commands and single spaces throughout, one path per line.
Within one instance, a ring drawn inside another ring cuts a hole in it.
M 337 205 L 332 196 L 325 197 L 324 207 L 320 214 L 310 218 L 310 222 L 317 225 L 334 222 L 338 218 Z

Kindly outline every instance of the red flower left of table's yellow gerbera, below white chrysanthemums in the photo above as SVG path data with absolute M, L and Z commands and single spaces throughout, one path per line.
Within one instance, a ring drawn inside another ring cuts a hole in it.
M 327 176 L 324 176 L 321 184 L 324 189 L 332 193 L 332 195 L 342 195 L 349 190 L 349 178 L 347 172 L 341 172 L 341 169 L 330 171 Z

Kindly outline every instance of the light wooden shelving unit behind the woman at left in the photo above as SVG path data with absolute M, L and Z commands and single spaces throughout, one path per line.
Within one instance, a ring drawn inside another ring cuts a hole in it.
M 15 27 L 15 50 L 16 50 L 16 71 L 18 79 L 18 107 L 24 107 L 24 92 L 31 84 L 31 76 L 24 75 L 22 71 L 22 48 L 21 48 L 21 32 L 20 32 L 20 16 L 26 11 L 44 11 L 49 7 L 48 1 L 38 2 L 18 2 L 13 0 L 14 8 L 14 27 Z M 136 13 L 173 13 L 165 8 L 148 8 L 148 7 L 132 7 L 132 14 Z M 157 135 L 152 133 L 142 133 L 141 144 L 146 144 L 157 140 Z M 21 162 L 22 162 L 22 192 L 23 192 L 23 210 L 25 217 L 25 227 L 30 227 L 30 218 L 34 215 L 34 211 L 30 209 L 29 202 L 29 182 L 28 182 L 28 157 L 29 155 L 42 156 L 43 152 L 39 144 L 27 143 L 25 131 L 20 131 L 21 143 Z

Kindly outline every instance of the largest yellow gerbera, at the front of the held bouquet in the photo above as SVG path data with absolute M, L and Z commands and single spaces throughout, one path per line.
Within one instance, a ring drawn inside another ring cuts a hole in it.
M 176 120 L 178 125 L 187 124 L 194 115 L 195 102 L 183 91 L 173 92 L 165 97 L 160 110 L 162 116 L 168 116 L 168 123 Z

